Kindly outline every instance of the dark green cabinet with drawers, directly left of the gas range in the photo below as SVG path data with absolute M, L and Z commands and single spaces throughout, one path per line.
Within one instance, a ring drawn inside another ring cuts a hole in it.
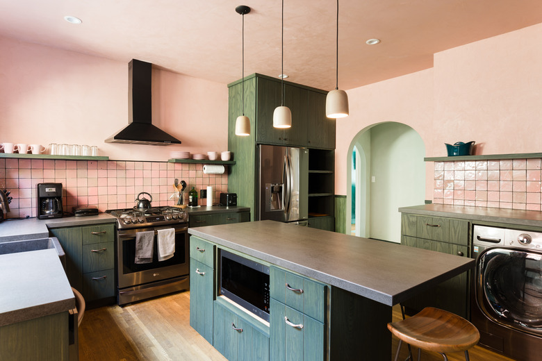
M 115 225 L 53 228 L 66 253 L 66 274 L 88 305 L 115 296 Z

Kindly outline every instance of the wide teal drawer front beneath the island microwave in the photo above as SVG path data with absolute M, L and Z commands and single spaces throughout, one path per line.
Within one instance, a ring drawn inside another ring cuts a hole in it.
M 257 322 L 215 301 L 213 346 L 228 360 L 269 360 L 269 336 L 258 329 Z

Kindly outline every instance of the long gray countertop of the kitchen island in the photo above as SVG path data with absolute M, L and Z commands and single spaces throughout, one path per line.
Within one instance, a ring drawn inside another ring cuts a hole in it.
M 386 305 L 407 300 L 475 263 L 457 255 L 276 221 L 188 232 Z

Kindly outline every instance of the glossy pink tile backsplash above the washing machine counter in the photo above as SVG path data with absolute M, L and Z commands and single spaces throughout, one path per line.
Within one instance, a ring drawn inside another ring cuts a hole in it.
M 540 211 L 541 165 L 538 158 L 435 162 L 433 203 Z

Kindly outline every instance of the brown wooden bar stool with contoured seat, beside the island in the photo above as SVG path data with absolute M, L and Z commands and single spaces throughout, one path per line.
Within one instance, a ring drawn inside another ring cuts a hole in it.
M 465 360 L 469 361 L 468 349 L 475 346 L 480 339 L 477 328 L 463 317 L 438 308 L 426 307 L 408 319 L 388 324 L 388 330 L 399 338 L 399 346 L 395 361 L 399 357 L 402 342 L 421 349 L 438 352 L 448 360 L 447 352 L 465 352 Z

